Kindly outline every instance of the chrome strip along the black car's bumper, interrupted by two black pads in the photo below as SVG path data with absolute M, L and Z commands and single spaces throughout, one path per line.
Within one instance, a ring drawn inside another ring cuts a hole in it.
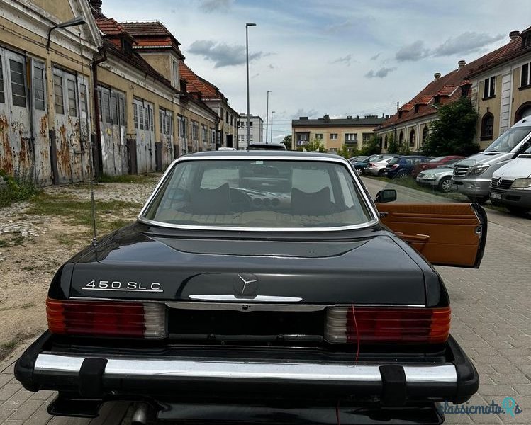
M 101 357 L 101 356 L 99 356 Z M 150 358 L 146 360 L 125 357 L 106 357 L 108 360 L 104 377 L 164 376 L 173 378 L 216 378 L 222 380 L 305 380 L 315 382 L 381 382 L 381 364 L 352 363 L 296 363 L 196 360 L 183 358 L 169 360 Z M 67 356 L 40 353 L 35 361 L 36 374 L 77 375 L 84 361 L 83 356 Z M 389 363 L 387 363 L 389 364 Z M 408 383 L 457 383 L 455 366 L 403 365 Z

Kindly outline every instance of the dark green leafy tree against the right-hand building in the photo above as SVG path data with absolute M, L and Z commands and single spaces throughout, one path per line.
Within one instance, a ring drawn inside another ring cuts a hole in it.
M 469 98 L 441 106 L 437 118 L 430 124 L 430 134 L 423 146 L 425 154 L 468 157 L 479 152 L 479 145 L 474 142 L 478 114 Z

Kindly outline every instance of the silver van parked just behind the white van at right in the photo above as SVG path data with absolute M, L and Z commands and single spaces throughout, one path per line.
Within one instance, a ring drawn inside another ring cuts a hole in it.
M 531 146 L 531 117 L 522 118 L 487 147 L 454 165 L 452 189 L 477 203 L 488 200 L 493 173 Z

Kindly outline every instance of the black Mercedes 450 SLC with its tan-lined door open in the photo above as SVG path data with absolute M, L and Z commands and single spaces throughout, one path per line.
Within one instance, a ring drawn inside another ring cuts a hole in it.
M 337 155 L 181 157 L 57 271 L 16 378 L 57 390 L 52 414 L 130 400 L 135 424 L 440 424 L 479 378 L 432 264 L 478 267 L 486 215 L 395 198 Z

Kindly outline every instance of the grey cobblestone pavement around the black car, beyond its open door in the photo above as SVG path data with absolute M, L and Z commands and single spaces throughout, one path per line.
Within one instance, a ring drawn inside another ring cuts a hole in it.
M 367 184 L 374 192 L 378 186 Z M 531 424 L 531 220 L 488 211 L 486 252 L 479 270 L 440 267 L 452 300 L 452 334 L 479 370 L 469 406 L 513 397 L 522 413 L 447 414 L 445 424 Z M 20 352 L 20 351 L 19 351 Z M 15 355 L 16 356 L 16 355 Z M 15 357 L 13 356 L 13 358 Z M 31 393 L 13 378 L 13 360 L 0 363 L 0 424 L 126 424 L 124 404 L 99 419 L 52 419 L 51 392 Z

